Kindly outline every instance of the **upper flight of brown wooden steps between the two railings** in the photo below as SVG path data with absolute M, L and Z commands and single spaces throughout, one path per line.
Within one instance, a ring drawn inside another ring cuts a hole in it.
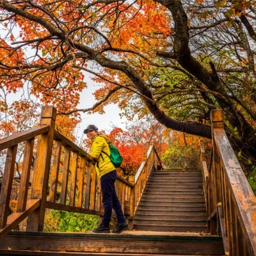
M 136 230 L 206 232 L 201 170 L 153 170 L 134 216 Z

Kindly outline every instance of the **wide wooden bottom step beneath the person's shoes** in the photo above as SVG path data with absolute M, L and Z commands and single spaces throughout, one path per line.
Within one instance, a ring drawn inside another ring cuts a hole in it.
M 182 246 L 181 246 L 182 245 Z M 5 255 L 224 255 L 221 237 L 199 233 L 124 231 L 121 234 L 12 231 Z

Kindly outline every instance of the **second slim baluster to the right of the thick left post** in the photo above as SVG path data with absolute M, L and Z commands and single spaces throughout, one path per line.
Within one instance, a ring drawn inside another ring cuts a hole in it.
M 68 182 L 69 182 L 70 153 L 71 153 L 71 147 L 66 146 L 65 147 L 65 153 L 64 153 L 62 181 L 61 181 L 61 192 L 60 192 L 60 203 L 61 204 L 66 204 L 66 200 L 67 200 L 67 190 L 68 190 Z

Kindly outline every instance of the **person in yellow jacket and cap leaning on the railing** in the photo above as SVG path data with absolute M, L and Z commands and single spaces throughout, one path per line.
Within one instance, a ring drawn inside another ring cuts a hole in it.
M 93 124 L 88 125 L 83 133 L 87 135 L 88 139 L 92 140 L 90 155 L 96 159 L 96 172 L 100 179 L 102 203 L 104 207 L 103 220 L 101 224 L 92 231 L 96 233 L 109 233 L 112 209 L 114 209 L 117 218 L 117 227 L 113 229 L 113 233 L 121 233 L 129 227 L 125 222 L 123 211 L 116 194 L 115 181 L 117 179 L 117 172 L 109 158 L 110 139 L 104 135 L 99 135 L 98 128 Z

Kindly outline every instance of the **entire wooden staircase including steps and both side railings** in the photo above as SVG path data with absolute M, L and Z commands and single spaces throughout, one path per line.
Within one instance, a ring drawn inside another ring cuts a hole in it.
M 256 256 L 256 198 L 223 129 L 221 110 L 211 112 L 211 156 L 201 145 L 200 171 L 162 170 L 152 142 L 136 175 L 129 181 L 118 177 L 118 198 L 133 230 L 43 232 L 47 208 L 103 215 L 95 159 L 55 130 L 55 118 L 56 110 L 45 106 L 39 126 L 0 140 L 0 151 L 6 152 L 1 255 Z M 25 149 L 17 209 L 9 215 L 21 143 Z M 26 232 L 11 231 L 26 219 Z

